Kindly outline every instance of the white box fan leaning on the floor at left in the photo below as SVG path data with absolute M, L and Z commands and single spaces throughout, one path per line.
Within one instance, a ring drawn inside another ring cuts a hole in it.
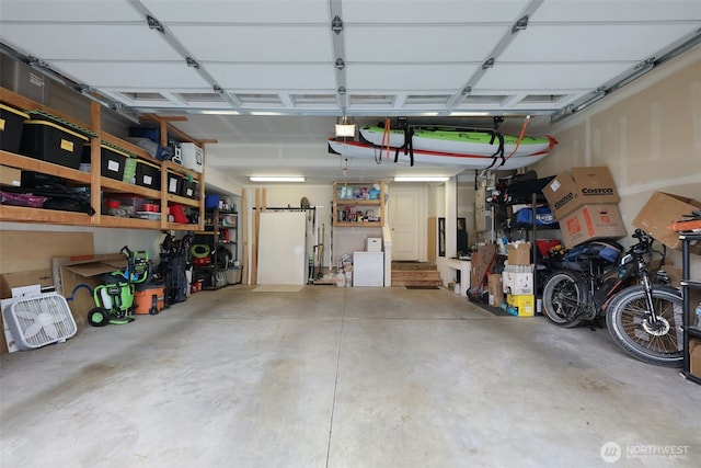
M 66 298 L 56 293 L 18 299 L 4 308 L 3 318 L 23 351 L 65 341 L 78 331 Z

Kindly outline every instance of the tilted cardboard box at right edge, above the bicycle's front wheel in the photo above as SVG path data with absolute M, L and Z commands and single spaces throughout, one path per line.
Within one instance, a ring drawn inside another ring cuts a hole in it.
M 640 210 L 632 225 L 644 230 L 670 249 L 681 250 L 679 233 L 669 229 L 683 215 L 701 209 L 701 202 L 664 192 L 652 194 Z M 701 242 L 691 246 L 691 252 L 701 255 Z

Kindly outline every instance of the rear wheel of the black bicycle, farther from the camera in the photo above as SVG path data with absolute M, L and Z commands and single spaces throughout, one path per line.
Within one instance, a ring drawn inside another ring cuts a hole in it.
M 543 286 L 543 312 L 556 326 L 572 328 L 579 324 L 579 305 L 586 304 L 588 292 L 578 274 L 562 271 L 548 278 Z

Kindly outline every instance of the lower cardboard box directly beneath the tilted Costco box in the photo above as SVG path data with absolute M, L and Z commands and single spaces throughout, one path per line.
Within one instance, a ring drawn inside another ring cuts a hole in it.
M 573 248 L 595 239 L 627 236 L 617 205 L 584 205 L 560 219 L 562 243 Z

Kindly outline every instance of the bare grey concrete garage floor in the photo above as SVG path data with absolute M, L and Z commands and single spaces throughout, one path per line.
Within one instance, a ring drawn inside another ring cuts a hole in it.
M 0 464 L 699 466 L 701 387 L 605 329 L 447 289 L 253 289 L 3 355 Z

